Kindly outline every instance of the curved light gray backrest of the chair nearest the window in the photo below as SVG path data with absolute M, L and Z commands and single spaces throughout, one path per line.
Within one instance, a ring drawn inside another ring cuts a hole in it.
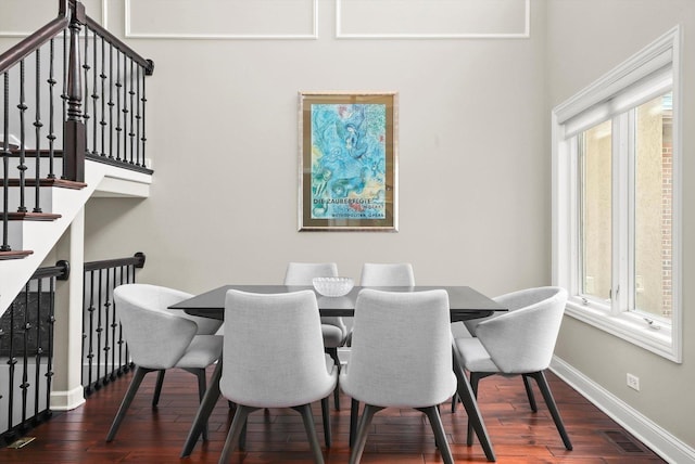
M 510 309 L 478 324 L 476 336 L 503 373 L 543 371 L 551 364 L 563 322 L 567 291 L 560 287 L 527 288 L 503 295 Z

